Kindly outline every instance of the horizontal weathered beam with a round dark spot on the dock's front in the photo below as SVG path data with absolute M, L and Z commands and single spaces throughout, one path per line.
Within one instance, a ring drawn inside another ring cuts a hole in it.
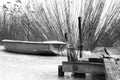
M 104 74 L 105 68 L 103 63 L 95 63 L 88 61 L 73 61 L 73 62 L 63 62 L 64 72 L 74 72 L 74 73 L 96 73 Z

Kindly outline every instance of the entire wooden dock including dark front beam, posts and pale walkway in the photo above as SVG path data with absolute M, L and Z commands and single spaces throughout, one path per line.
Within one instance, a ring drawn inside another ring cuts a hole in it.
M 86 73 L 104 74 L 106 80 L 120 80 L 120 60 L 90 58 L 89 61 L 64 61 L 59 65 L 58 75 L 64 76 L 65 72 L 72 72 L 75 77 L 85 77 Z

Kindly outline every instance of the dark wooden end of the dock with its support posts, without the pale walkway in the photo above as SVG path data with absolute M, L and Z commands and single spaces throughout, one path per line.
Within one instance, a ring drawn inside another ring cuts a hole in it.
M 102 59 L 90 58 L 89 61 L 63 61 L 58 66 L 58 76 L 64 76 L 65 72 L 72 72 L 74 76 L 85 77 L 86 73 L 105 74 L 105 67 Z

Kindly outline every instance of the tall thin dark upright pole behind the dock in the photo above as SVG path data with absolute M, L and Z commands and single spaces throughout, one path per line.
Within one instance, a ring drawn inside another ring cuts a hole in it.
M 82 30 L 81 30 L 81 17 L 78 17 L 78 28 L 79 28 L 79 40 L 80 40 L 80 58 L 82 58 L 82 51 L 83 51 L 83 45 L 82 45 Z

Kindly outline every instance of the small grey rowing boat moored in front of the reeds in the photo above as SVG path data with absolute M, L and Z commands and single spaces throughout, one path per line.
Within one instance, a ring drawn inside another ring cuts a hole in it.
M 61 55 L 66 49 L 66 43 L 61 41 L 19 41 L 19 40 L 2 40 L 7 51 L 29 54 L 42 55 Z

